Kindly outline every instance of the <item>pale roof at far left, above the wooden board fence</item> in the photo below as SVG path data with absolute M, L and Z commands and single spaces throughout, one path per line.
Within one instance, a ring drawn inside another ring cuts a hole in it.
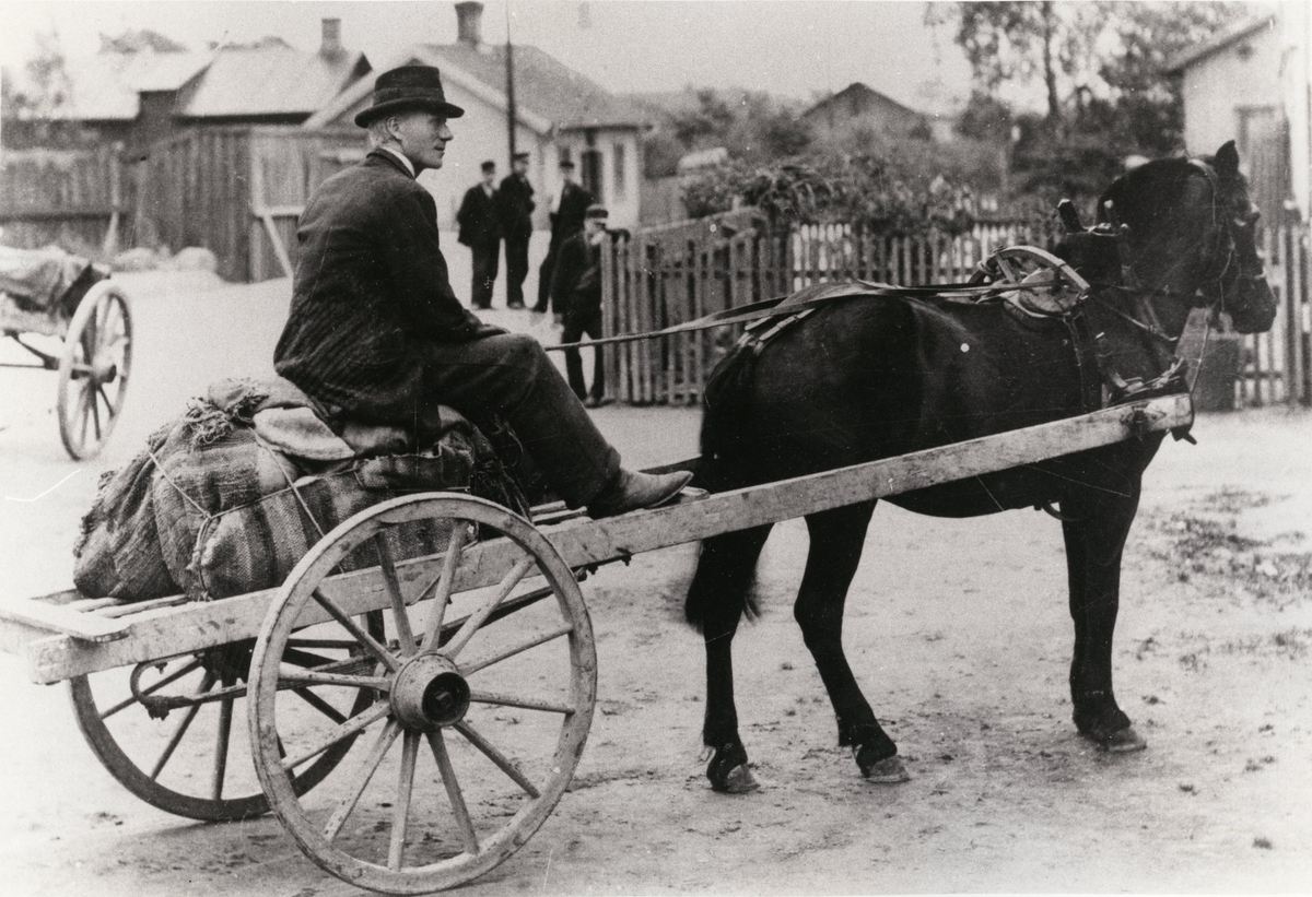
M 55 121 L 106 122 L 136 118 L 140 90 L 174 90 L 209 63 L 199 52 L 98 52 L 64 60 L 63 101 L 50 111 Z M 16 89 L 31 92 L 25 71 L 7 70 Z

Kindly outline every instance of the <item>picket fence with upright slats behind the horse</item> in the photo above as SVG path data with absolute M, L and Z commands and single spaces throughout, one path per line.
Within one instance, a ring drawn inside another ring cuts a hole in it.
M 604 329 L 607 336 L 656 330 L 825 281 L 959 283 L 997 249 L 1046 247 L 1051 236 L 1009 222 L 959 236 L 872 235 L 848 224 L 781 235 L 747 212 L 681 222 L 621 237 L 602 253 Z M 1308 229 L 1273 228 L 1262 237 L 1281 311 L 1270 332 L 1240 341 L 1236 404 L 1312 404 Z M 740 332 L 715 328 L 609 346 L 607 389 L 632 404 L 695 404 Z

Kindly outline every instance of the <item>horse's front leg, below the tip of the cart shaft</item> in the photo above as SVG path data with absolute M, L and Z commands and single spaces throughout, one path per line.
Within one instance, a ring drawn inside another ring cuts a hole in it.
M 1111 690 L 1111 639 L 1120 602 L 1120 557 L 1139 508 L 1139 483 L 1130 494 L 1063 498 L 1061 511 L 1075 654 L 1071 702 L 1080 734 L 1113 751 L 1143 750 L 1148 744 L 1117 706 Z

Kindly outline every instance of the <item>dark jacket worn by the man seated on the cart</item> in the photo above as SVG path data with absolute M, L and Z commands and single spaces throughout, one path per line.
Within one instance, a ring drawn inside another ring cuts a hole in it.
M 488 332 L 451 291 L 433 195 L 383 151 L 319 185 L 297 240 L 274 370 L 329 412 L 409 407 L 420 346 Z

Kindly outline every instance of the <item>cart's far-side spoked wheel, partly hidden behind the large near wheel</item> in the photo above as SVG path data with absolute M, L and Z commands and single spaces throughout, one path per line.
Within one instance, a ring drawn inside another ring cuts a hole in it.
M 380 626 L 382 614 L 365 622 L 379 635 Z M 308 639 L 293 644 L 307 656 L 302 662 L 318 662 L 321 645 Z M 240 737 L 252 647 L 235 643 L 70 679 L 77 727 L 92 753 L 119 784 L 168 813 L 209 822 L 268 813 L 247 740 Z M 310 695 L 302 712 L 342 720 L 371 700 L 361 692 L 354 704 L 333 707 Z M 345 740 L 302 768 L 297 789 L 321 782 L 349 749 Z

